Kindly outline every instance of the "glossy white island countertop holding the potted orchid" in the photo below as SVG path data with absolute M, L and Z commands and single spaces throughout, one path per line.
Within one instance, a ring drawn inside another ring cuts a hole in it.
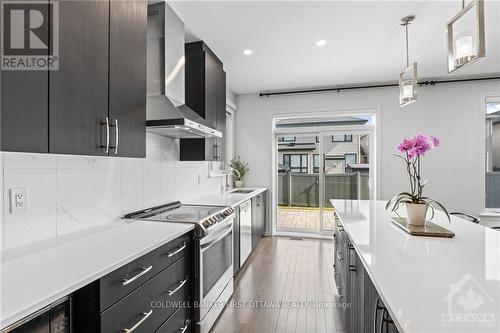
M 410 236 L 385 202 L 331 203 L 400 332 L 500 332 L 500 232 L 436 212 L 454 238 Z

